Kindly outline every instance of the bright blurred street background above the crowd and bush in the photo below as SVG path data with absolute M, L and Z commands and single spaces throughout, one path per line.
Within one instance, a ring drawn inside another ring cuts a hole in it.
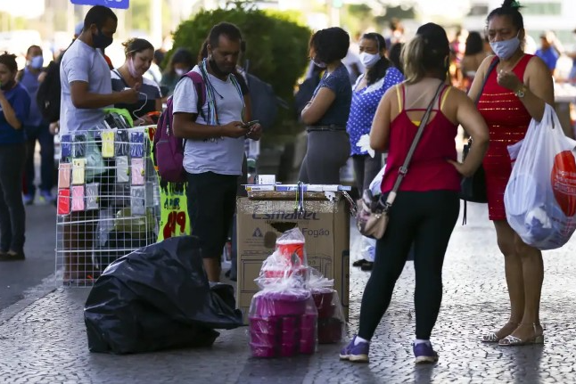
M 171 34 L 182 20 L 203 10 L 233 8 L 238 4 L 257 9 L 301 12 L 310 29 L 341 26 L 350 37 L 367 30 L 390 34 L 389 22 L 402 20 L 405 34 L 411 37 L 418 25 L 434 21 L 444 26 L 448 37 L 458 29 L 483 31 L 491 9 L 500 0 L 130 0 L 128 10 L 114 10 L 119 17 L 114 44 L 106 53 L 114 66 L 124 61 L 121 42 L 128 37 L 144 37 L 156 48 L 172 46 Z M 527 32 L 534 42 L 548 29 L 555 32 L 567 52 L 574 51 L 576 2 L 573 0 L 524 0 L 523 15 Z M 21 55 L 31 44 L 44 48 L 45 60 L 52 59 L 70 45 L 75 25 L 83 20 L 88 5 L 70 0 L 0 1 L 0 50 Z M 527 42 L 532 44 L 531 41 Z M 538 44 L 538 43 L 535 43 Z M 559 71 L 567 76 L 572 60 L 561 58 Z

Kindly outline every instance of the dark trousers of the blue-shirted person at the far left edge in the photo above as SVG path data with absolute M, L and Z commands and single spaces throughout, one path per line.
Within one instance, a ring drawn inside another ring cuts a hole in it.
M 0 145 L 0 250 L 24 249 L 26 211 L 22 202 L 22 174 L 26 145 Z

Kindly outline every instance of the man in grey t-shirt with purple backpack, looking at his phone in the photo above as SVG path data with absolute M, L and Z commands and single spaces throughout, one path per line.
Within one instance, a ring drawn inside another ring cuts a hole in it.
M 174 134 L 186 139 L 184 167 L 192 234 L 202 244 L 210 282 L 220 280 L 220 255 L 235 213 L 238 177 L 242 175 L 244 138 L 259 140 L 258 123 L 243 123 L 243 95 L 234 71 L 242 36 L 233 24 L 210 30 L 208 59 L 193 68 L 206 85 L 206 102 L 197 109 L 193 81 L 182 78 L 174 90 Z

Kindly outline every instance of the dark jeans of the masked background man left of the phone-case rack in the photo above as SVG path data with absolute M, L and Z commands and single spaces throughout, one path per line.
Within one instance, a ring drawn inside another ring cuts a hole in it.
M 26 144 L 28 154 L 25 174 L 28 194 L 30 196 L 36 194 L 36 186 L 34 185 L 34 152 L 36 142 L 40 143 L 40 191 L 51 191 L 54 174 L 54 136 L 50 133 L 47 124 L 42 124 L 37 127 L 25 126 L 24 132 L 26 132 L 26 138 L 28 140 Z

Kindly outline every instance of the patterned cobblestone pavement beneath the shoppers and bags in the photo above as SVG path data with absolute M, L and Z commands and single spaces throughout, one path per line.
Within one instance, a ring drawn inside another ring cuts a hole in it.
M 358 235 L 353 236 L 357 248 Z M 19 311 L 0 313 L 1 383 L 538 383 L 575 382 L 576 240 L 545 253 L 542 321 L 546 344 L 481 344 L 484 331 L 506 322 L 503 258 L 485 207 L 457 225 L 444 267 L 444 298 L 432 335 L 440 362 L 416 366 L 414 267 L 407 263 L 373 340 L 370 364 L 338 360 L 340 345 L 316 355 L 251 358 L 246 328 L 222 331 L 213 347 L 142 355 L 91 354 L 82 308 L 87 289 L 54 290 Z M 354 258 L 354 256 L 352 257 Z M 358 327 L 367 273 L 350 268 L 350 333 Z

